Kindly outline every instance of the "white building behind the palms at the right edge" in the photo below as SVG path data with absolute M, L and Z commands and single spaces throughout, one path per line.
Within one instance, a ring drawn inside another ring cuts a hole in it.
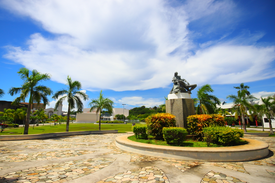
M 268 96 L 273 96 L 273 98 L 275 99 L 275 93 L 262 95 L 261 97 L 262 98 L 267 98 Z M 253 104 L 253 105 L 255 105 L 255 104 L 261 105 L 262 101 L 261 101 L 260 98 L 258 98 L 258 99 L 255 99 L 253 101 L 250 101 L 250 103 Z M 230 109 L 233 107 L 233 102 L 231 102 L 231 103 L 221 102 L 221 105 L 217 105 L 217 107 L 218 108 L 221 107 L 221 109 L 228 109 L 229 110 L 228 112 L 231 114 Z M 249 113 L 249 111 L 247 111 L 247 113 Z M 227 116 L 231 116 L 231 115 L 227 115 Z M 235 117 L 235 115 L 233 114 L 232 117 Z M 249 119 L 248 116 L 245 116 L 245 123 L 246 124 L 247 124 L 247 118 Z M 241 120 L 240 116 L 239 116 L 239 120 Z M 266 117 L 266 115 L 263 116 L 262 121 L 264 122 L 264 128 L 269 128 L 268 118 Z M 274 127 L 275 126 L 275 120 L 271 119 L 271 122 L 272 122 L 272 127 Z M 256 121 L 255 119 L 253 121 L 250 120 L 249 123 L 250 123 L 250 126 L 261 126 L 262 125 L 260 120 Z

